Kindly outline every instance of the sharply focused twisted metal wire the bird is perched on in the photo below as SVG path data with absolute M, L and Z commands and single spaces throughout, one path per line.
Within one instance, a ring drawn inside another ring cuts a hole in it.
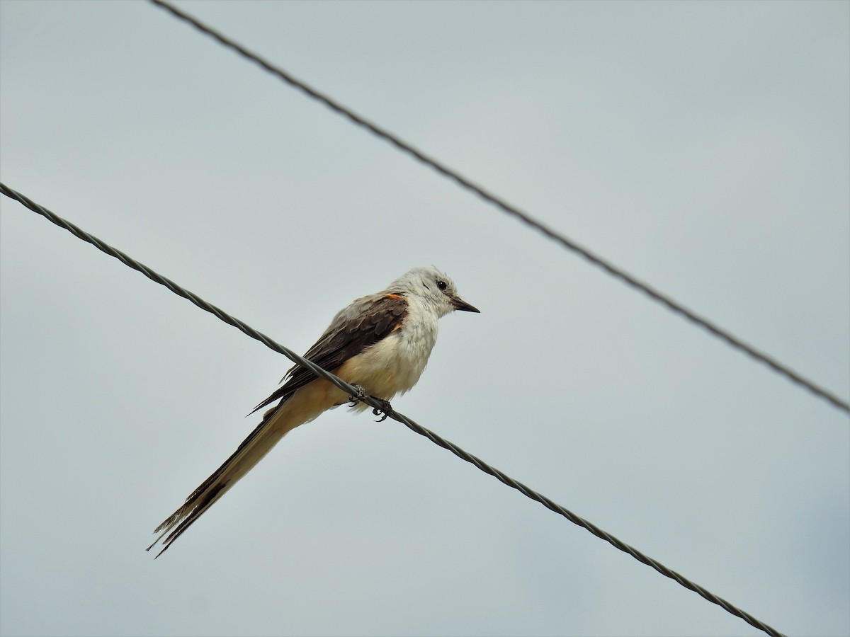
M 92 234 L 88 234 L 85 230 L 82 230 L 82 228 L 79 228 L 71 222 L 65 221 L 65 219 L 63 219 L 62 217 L 59 217 L 54 212 L 49 211 L 44 206 L 40 206 L 35 201 L 31 200 L 29 197 L 26 197 L 24 194 L 20 194 L 19 192 L 8 188 L 8 186 L 6 186 L 4 183 L 0 183 L 0 192 L 2 192 L 11 199 L 20 201 L 21 204 L 29 208 L 31 211 L 37 212 L 38 214 L 42 215 L 42 217 L 46 217 L 48 221 L 55 223 L 57 226 L 59 226 L 59 228 L 65 228 L 65 230 L 68 230 L 77 238 L 94 245 L 94 247 L 98 248 L 98 250 L 104 251 L 110 256 L 114 256 L 127 267 L 133 268 L 134 270 L 138 270 L 140 273 L 143 273 L 144 276 L 146 276 L 148 279 L 151 279 L 152 281 L 155 281 L 160 285 L 165 285 L 168 290 L 173 291 L 174 294 L 178 296 L 183 296 L 184 299 L 188 299 L 190 302 L 193 302 L 197 307 L 200 307 L 202 310 L 206 310 L 207 312 L 212 313 L 217 318 L 224 321 L 224 323 L 233 325 L 235 328 L 238 328 L 246 335 L 251 336 L 257 341 L 260 341 L 266 347 L 269 347 L 275 352 L 283 354 L 284 356 L 286 356 L 286 358 L 292 360 L 293 363 L 297 363 L 299 365 L 302 365 L 303 367 L 310 369 L 315 375 L 320 376 L 326 381 L 330 381 L 335 386 L 339 387 L 339 389 L 341 389 L 343 392 L 347 392 L 349 396 L 359 397 L 359 399 L 362 400 L 364 403 L 370 405 L 374 409 L 378 409 L 379 411 L 386 409 L 386 405 L 383 404 L 381 401 L 378 401 L 373 397 L 362 397 L 360 395 L 360 392 L 358 392 L 357 387 L 349 385 L 342 379 L 337 378 L 337 376 L 331 374 L 325 369 L 320 368 L 319 365 L 312 363 L 306 358 L 298 356 L 297 353 L 293 352 L 288 347 L 283 347 L 275 341 L 272 341 L 268 336 L 264 335 L 261 332 L 258 332 L 257 330 L 254 330 L 250 325 L 243 323 L 238 318 L 230 316 L 228 313 L 225 313 L 224 310 L 215 307 L 211 303 L 204 301 L 199 296 L 195 296 L 195 294 L 193 294 L 189 290 L 184 289 L 180 285 L 177 285 L 171 279 L 167 279 L 161 274 L 154 272 L 153 270 L 145 266 L 143 263 L 140 263 L 133 259 L 133 257 L 127 256 L 122 251 L 116 250 L 116 248 L 113 248 L 111 245 L 105 243 L 102 240 L 99 240 Z M 444 437 L 440 437 L 433 431 L 430 431 L 425 427 L 419 425 L 418 423 L 409 419 L 404 414 L 399 414 L 399 412 L 397 411 L 390 411 L 387 415 L 389 418 L 397 420 L 403 425 L 407 426 L 409 429 L 411 429 L 411 431 L 416 431 L 416 433 L 418 433 L 420 436 L 427 437 L 428 440 L 430 440 L 431 442 L 438 444 L 442 448 L 448 449 L 452 454 L 455 454 L 458 458 L 466 460 L 468 463 L 475 465 L 481 471 L 484 471 L 484 473 L 488 473 L 490 474 L 490 476 L 495 477 L 499 482 L 507 484 L 507 486 L 510 488 L 516 489 L 517 491 L 519 491 L 519 493 L 522 493 L 527 498 L 539 502 L 547 509 L 553 510 L 555 513 L 564 516 L 565 518 L 567 518 L 567 520 L 573 522 L 574 524 L 586 528 L 596 537 L 604 539 L 606 542 L 608 542 L 612 546 L 615 546 L 617 549 L 628 553 L 629 555 L 632 555 L 632 557 L 636 560 L 643 562 L 643 564 L 655 568 L 656 571 L 660 572 L 667 578 L 671 578 L 677 583 L 682 584 L 686 589 L 693 590 L 695 593 L 704 597 L 706 600 L 711 601 L 711 603 L 717 604 L 717 606 L 720 606 L 721 608 L 723 608 L 723 610 L 732 613 L 736 617 L 740 617 L 746 623 L 749 623 L 751 626 L 763 630 L 765 633 L 773 635 L 773 637 L 785 637 L 782 633 L 779 633 L 778 630 L 768 626 L 768 624 L 766 623 L 759 621 L 750 613 L 742 611 L 740 608 L 734 606 L 727 600 L 724 600 L 722 597 L 714 595 L 713 593 L 711 593 L 711 591 L 703 588 L 699 584 L 690 581 L 688 578 L 685 578 L 683 575 L 680 575 L 675 571 L 672 571 L 670 568 L 667 568 L 666 566 L 661 564 L 660 561 L 652 559 L 651 557 L 649 557 L 649 555 L 644 555 L 641 551 L 635 549 L 629 544 L 626 544 L 622 540 L 615 538 L 613 535 L 605 532 L 603 529 L 597 527 L 592 522 L 585 520 L 581 516 L 575 515 L 575 513 L 568 509 L 565 509 L 561 505 L 558 505 L 552 499 L 548 499 L 545 495 L 537 493 L 535 490 L 526 487 L 522 482 L 514 480 L 512 477 L 507 476 L 495 467 L 488 465 L 486 462 L 484 462 L 484 460 L 479 459 L 473 454 L 467 453 L 462 448 L 457 447 L 455 444 L 450 443 Z

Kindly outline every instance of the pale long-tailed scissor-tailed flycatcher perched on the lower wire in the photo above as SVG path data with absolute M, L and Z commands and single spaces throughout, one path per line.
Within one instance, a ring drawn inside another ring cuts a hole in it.
M 416 385 L 437 341 L 437 319 L 455 310 L 479 312 L 457 296 L 455 284 L 437 268 L 413 268 L 386 290 L 344 307 L 304 358 L 388 401 Z M 242 476 L 251 471 L 288 431 L 314 420 L 327 409 L 352 400 L 309 369 L 296 365 L 276 392 L 253 411 L 277 402 L 224 465 L 190 493 L 154 533 L 165 551 Z M 357 403 L 352 409 L 362 411 Z M 252 411 L 252 413 L 253 413 Z

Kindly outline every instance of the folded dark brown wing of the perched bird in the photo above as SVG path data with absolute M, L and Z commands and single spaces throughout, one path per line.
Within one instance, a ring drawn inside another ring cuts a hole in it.
M 356 356 L 366 347 L 370 347 L 397 330 L 407 313 L 407 301 L 404 296 L 388 294 L 366 305 L 354 318 L 334 321 L 325 334 L 310 347 L 304 358 L 330 372 Z M 254 411 L 263 409 L 280 398 L 292 396 L 298 389 L 315 379 L 309 369 L 295 365 L 284 377 L 280 386 L 271 396 L 259 403 Z

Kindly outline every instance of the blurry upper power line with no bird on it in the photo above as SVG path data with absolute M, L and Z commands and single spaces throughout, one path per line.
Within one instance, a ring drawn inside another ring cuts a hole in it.
M 790 367 L 785 364 L 780 363 L 775 358 L 769 356 L 765 352 L 761 352 L 757 350 L 755 347 L 752 347 L 745 341 L 742 341 L 737 336 L 733 335 L 728 330 L 724 330 L 717 324 L 712 323 L 707 318 L 700 316 L 695 313 L 693 310 L 689 310 L 687 307 L 684 307 L 683 304 L 674 300 L 671 296 L 667 296 L 666 294 L 660 292 L 659 290 L 655 290 L 651 285 L 644 283 L 642 280 L 638 279 L 636 276 L 627 273 L 622 268 L 618 268 L 612 262 L 604 259 L 602 256 L 598 256 L 592 251 L 588 250 L 586 247 L 576 243 L 574 240 L 571 240 L 569 237 L 564 234 L 558 233 L 557 230 L 550 228 L 544 223 L 537 221 L 534 217 L 531 217 L 527 212 L 520 210 L 516 206 L 512 206 L 507 203 L 507 201 L 502 200 L 496 194 L 491 193 L 489 190 L 484 189 L 476 183 L 473 183 L 470 179 L 463 177 L 460 173 L 452 170 L 450 167 L 445 166 L 445 164 L 437 161 L 433 157 L 426 155 L 422 150 L 416 149 L 412 144 L 408 144 L 404 139 L 399 138 L 394 135 L 392 132 L 388 132 L 386 129 L 378 126 L 377 124 L 365 119 L 365 117 L 358 115 L 353 110 L 348 109 L 343 104 L 340 104 L 335 99 L 331 99 L 327 95 L 320 93 L 315 88 L 310 87 L 309 84 L 298 80 L 296 77 L 292 76 L 286 70 L 281 69 L 279 66 L 273 65 L 266 59 L 263 59 L 258 54 L 252 53 L 245 47 L 243 47 L 238 42 L 231 40 L 229 37 L 224 36 L 222 33 L 215 31 L 212 27 L 209 27 L 203 24 L 201 21 L 196 20 L 189 14 L 184 13 L 177 7 L 164 2 L 163 0 L 150 0 L 150 2 L 156 4 L 158 7 L 164 8 L 173 14 L 175 17 L 180 20 L 184 20 L 188 22 L 190 25 L 193 25 L 197 30 L 206 33 L 208 36 L 211 36 L 218 40 L 218 42 L 222 43 L 225 47 L 233 49 L 236 53 L 241 54 L 246 59 L 255 62 L 260 65 L 263 70 L 269 71 L 272 75 L 279 77 L 284 82 L 288 83 L 290 86 L 297 88 L 303 93 L 307 94 L 310 98 L 316 99 L 322 104 L 325 104 L 331 110 L 334 110 L 339 115 L 345 116 L 348 120 L 353 121 L 354 124 L 365 128 L 367 131 L 376 135 L 379 138 L 382 138 L 388 141 L 390 144 L 393 144 L 397 149 L 405 152 L 408 155 L 412 155 L 416 161 L 420 161 L 423 164 L 430 166 L 435 171 L 439 172 L 443 176 L 451 179 L 462 188 L 470 190 L 474 194 L 479 195 L 479 197 L 490 204 L 500 208 L 502 211 L 507 212 L 509 215 L 516 217 L 519 221 L 525 223 L 531 228 L 535 228 L 549 239 L 556 241 L 558 244 L 562 245 L 567 250 L 575 252 L 582 258 L 584 258 L 587 262 L 592 263 L 592 265 L 597 266 L 598 268 L 602 268 L 606 273 L 609 273 L 611 276 L 615 277 L 615 279 L 620 279 L 626 285 L 631 286 L 635 290 L 640 290 L 646 296 L 653 299 L 656 302 L 661 303 L 664 307 L 670 310 L 673 313 L 677 313 L 684 318 L 687 318 L 691 323 L 699 325 L 703 329 L 707 330 L 711 335 L 716 336 L 721 341 L 724 341 L 729 347 L 734 347 L 735 349 L 744 352 L 749 357 L 754 358 L 755 360 L 761 362 L 762 364 L 766 364 L 770 369 L 773 369 L 777 374 L 785 376 L 786 379 L 796 383 L 799 386 L 807 389 L 808 392 L 813 393 L 815 396 L 823 398 L 824 400 L 831 403 L 837 409 L 842 409 L 842 411 L 846 411 L 850 414 L 850 403 L 847 403 L 842 400 L 842 398 L 837 397 L 836 394 L 826 390 L 825 388 L 815 384 L 813 381 L 809 381 L 807 378 L 797 373 Z

